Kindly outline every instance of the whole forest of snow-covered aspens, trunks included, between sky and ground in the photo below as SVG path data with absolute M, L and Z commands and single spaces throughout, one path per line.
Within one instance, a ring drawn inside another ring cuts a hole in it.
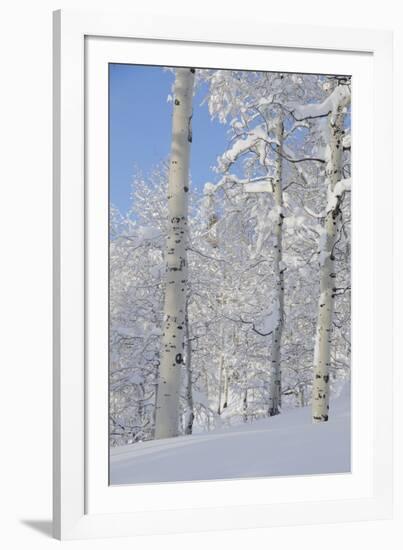
M 228 131 L 202 191 L 200 87 Z M 350 379 L 351 81 L 176 69 L 170 93 L 170 157 L 110 208 L 110 445 L 331 420 Z

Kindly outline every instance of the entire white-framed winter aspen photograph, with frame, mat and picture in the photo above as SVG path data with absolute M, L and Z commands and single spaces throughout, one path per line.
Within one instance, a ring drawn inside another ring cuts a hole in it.
M 55 12 L 55 537 L 390 517 L 391 82 L 385 31 Z

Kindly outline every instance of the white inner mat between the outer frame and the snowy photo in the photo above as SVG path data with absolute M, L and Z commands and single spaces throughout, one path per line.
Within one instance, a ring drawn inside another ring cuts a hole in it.
M 234 51 L 236 52 L 234 55 Z M 201 43 L 87 37 L 86 69 L 86 513 L 122 513 L 363 498 L 372 494 L 374 286 L 373 244 L 373 56 L 368 53 L 223 47 Z M 351 472 L 187 481 L 186 483 L 108 484 L 108 105 L 109 64 L 174 65 L 349 74 L 353 81 L 352 166 L 352 395 Z M 359 312 L 365 311 L 365 315 Z M 357 383 L 358 381 L 358 383 Z M 240 499 L 240 495 L 242 495 Z

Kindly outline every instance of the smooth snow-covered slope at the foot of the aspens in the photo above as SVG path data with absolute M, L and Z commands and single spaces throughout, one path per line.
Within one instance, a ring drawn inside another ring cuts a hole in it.
M 331 403 L 330 420 L 292 409 L 208 434 L 111 450 L 111 484 L 327 474 L 350 471 L 350 396 Z

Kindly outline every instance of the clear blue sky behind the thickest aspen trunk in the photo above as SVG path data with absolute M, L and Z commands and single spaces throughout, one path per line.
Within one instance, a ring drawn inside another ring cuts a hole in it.
M 167 102 L 174 74 L 161 67 L 109 65 L 110 200 L 124 213 L 130 206 L 135 167 L 143 173 L 169 156 L 172 104 Z M 227 145 L 226 127 L 211 121 L 205 89 L 193 102 L 193 142 L 190 172 L 192 185 L 202 189 L 216 181 L 211 167 Z

